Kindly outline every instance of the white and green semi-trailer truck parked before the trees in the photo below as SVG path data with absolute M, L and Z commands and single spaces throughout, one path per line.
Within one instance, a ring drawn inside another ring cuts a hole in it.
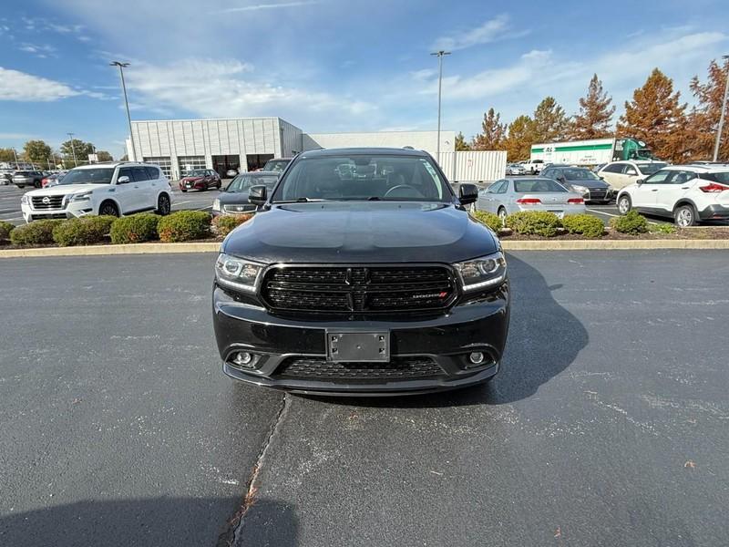
M 655 160 L 642 140 L 590 139 L 570 142 L 544 142 L 531 145 L 531 162 L 594 166 L 619 160 Z

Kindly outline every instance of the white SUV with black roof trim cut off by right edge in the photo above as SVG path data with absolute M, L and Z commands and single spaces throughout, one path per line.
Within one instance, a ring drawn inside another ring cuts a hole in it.
M 729 219 L 729 165 L 672 165 L 626 186 L 616 200 L 621 214 L 673 217 L 681 226 Z

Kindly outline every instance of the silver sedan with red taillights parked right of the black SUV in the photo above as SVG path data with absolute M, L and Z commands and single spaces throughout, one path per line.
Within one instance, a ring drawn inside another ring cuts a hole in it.
M 585 200 L 551 179 L 502 179 L 478 192 L 476 209 L 496 213 L 502 220 L 519 211 L 548 211 L 562 218 L 585 212 Z

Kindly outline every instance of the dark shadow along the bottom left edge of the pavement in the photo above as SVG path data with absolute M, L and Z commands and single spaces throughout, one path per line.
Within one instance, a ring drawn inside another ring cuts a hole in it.
M 269 499 L 256 500 L 243 517 L 233 541 L 231 515 L 210 514 L 221 507 L 240 507 L 241 498 L 152 498 L 145 500 L 78 501 L 67 505 L 0 516 L 0 545 L 272 545 L 294 547 L 298 521 L 293 507 Z

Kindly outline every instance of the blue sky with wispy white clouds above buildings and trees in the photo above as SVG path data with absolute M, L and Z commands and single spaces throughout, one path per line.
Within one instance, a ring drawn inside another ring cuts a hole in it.
M 547 95 L 569 113 L 597 72 L 619 108 L 653 67 L 689 79 L 729 53 L 729 3 L 416 0 L 4 0 L 0 146 L 72 131 L 115 157 L 126 118 L 111 59 L 131 63 L 133 119 L 280 116 L 305 131 L 475 134 Z

